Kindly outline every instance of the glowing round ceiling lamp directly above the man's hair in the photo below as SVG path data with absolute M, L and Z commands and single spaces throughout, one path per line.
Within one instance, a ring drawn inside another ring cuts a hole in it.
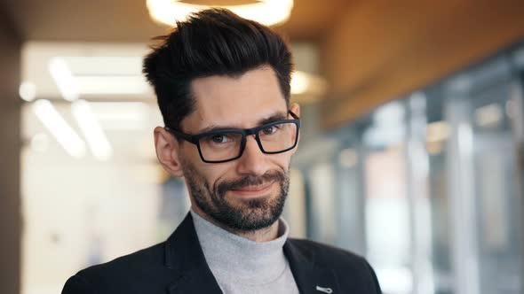
M 293 0 L 259 0 L 254 4 L 217 5 L 240 15 L 244 19 L 253 19 L 267 26 L 282 23 L 290 18 Z M 208 5 L 187 4 L 179 0 L 147 0 L 149 15 L 156 21 L 169 26 L 176 26 L 176 21 L 187 19 L 193 12 L 210 8 Z

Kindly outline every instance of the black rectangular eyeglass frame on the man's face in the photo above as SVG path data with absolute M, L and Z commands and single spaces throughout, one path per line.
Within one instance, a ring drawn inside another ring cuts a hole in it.
M 298 133 L 300 130 L 300 118 L 297 116 L 297 114 L 291 111 L 288 111 L 288 113 L 290 113 L 290 115 L 294 118 L 294 120 L 276 120 L 276 121 L 272 121 L 264 125 L 255 127 L 255 128 L 243 128 L 243 129 L 242 128 L 224 128 L 224 129 L 212 130 L 209 132 L 204 132 L 204 133 L 196 134 L 196 135 L 186 134 L 186 133 L 180 132 L 179 130 L 176 130 L 174 128 L 169 128 L 169 127 L 164 127 L 164 129 L 170 132 L 171 134 L 189 143 L 194 143 L 196 145 L 196 148 L 198 149 L 198 153 L 200 154 L 200 159 L 202 159 L 203 162 L 205 163 L 223 163 L 227 161 L 233 161 L 235 159 L 240 159 L 242 157 L 243 151 L 247 143 L 246 137 L 248 135 L 255 135 L 255 140 L 258 143 L 258 148 L 260 148 L 260 151 L 262 151 L 262 153 L 265 153 L 265 154 L 278 154 L 278 153 L 290 151 L 291 149 L 295 148 L 298 143 Z M 276 126 L 282 123 L 294 123 L 297 126 L 297 133 L 295 134 L 295 143 L 293 143 L 293 145 L 290 148 L 287 148 L 282 151 L 265 151 L 264 147 L 262 146 L 262 143 L 260 142 L 260 137 L 258 136 L 258 132 L 264 128 L 273 127 L 273 126 Z M 218 134 L 223 134 L 223 133 L 236 133 L 236 134 L 242 135 L 242 140 L 240 143 L 240 151 L 238 153 L 238 156 L 234 157 L 233 159 L 225 159 L 225 160 L 206 160 L 204 159 L 203 154 L 202 154 L 202 149 L 200 148 L 200 139 L 206 136 L 218 135 Z

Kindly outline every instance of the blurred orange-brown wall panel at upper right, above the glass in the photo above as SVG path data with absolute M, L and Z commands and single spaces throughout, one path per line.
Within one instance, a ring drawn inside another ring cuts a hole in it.
M 520 0 L 353 5 L 323 40 L 332 86 L 324 126 L 354 120 L 520 41 L 523 11 Z

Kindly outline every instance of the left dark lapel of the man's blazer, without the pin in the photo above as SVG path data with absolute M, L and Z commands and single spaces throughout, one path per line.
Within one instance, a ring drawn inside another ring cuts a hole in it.
M 174 270 L 167 287 L 170 294 L 222 293 L 203 256 L 190 213 L 165 244 L 165 265 Z

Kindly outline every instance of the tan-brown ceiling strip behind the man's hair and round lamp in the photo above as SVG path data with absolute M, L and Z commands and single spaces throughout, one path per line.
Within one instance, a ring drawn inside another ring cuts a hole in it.
M 193 4 L 245 4 L 254 0 L 186 0 Z M 289 21 L 277 27 L 292 41 L 321 38 L 347 6 L 347 0 L 295 0 Z M 27 41 L 145 43 L 168 27 L 156 24 L 146 0 L 0 0 Z

